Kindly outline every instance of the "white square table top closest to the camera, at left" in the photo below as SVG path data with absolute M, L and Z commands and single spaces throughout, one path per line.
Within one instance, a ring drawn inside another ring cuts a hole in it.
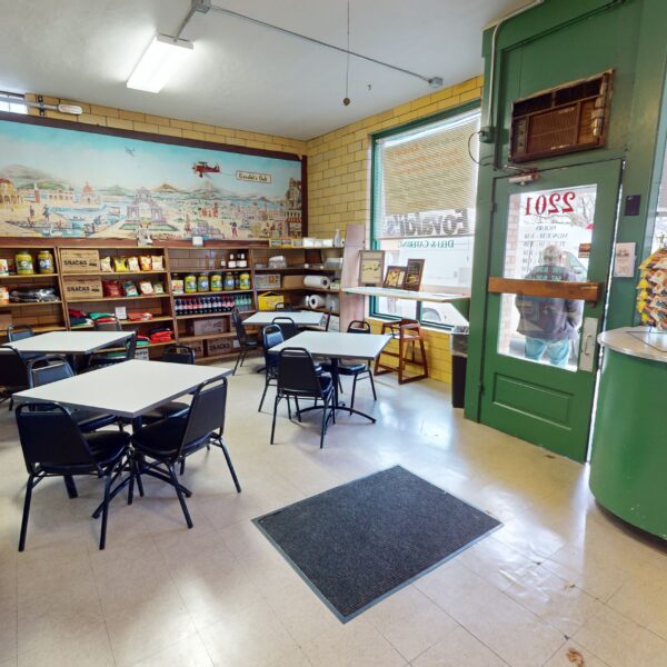
M 70 408 L 135 418 L 201 382 L 231 375 L 230 368 L 132 359 L 13 395 L 20 402 L 58 402 Z

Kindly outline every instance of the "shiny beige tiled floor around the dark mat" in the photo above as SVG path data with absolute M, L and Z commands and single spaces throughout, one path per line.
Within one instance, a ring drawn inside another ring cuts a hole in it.
M 587 469 L 449 408 L 438 382 L 366 388 L 370 426 L 342 417 L 323 450 L 315 418 L 283 416 L 269 446 L 253 364 L 230 380 L 227 440 L 188 462 L 195 528 L 170 488 L 113 504 L 108 547 L 89 518 L 100 485 L 34 492 L 17 554 L 26 472 L 0 408 L 0 667 L 667 666 L 667 555 L 600 511 Z M 250 524 L 311 494 L 400 464 L 504 527 L 341 625 Z

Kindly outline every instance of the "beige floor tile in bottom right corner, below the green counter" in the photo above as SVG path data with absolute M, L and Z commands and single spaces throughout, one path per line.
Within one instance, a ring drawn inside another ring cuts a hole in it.
M 603 607 L 574 639 L 609 667 L 667 665 L 667 641 L 609 607 Z

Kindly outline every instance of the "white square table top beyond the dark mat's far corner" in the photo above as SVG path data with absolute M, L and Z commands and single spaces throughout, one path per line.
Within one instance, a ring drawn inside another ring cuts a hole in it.
M 303 331 L 272 347 L 269 351 L 279 352 L 288 347 L 301 347 L 315 357 L 375 359 L 390 340 L 389 334 Z

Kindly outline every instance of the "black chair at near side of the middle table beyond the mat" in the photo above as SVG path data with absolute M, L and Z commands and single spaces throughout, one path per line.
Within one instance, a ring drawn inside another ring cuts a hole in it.
M 325 446 L 327 425 L 332 418 L 336 422 L 334 406 L 334 382 L 331 376 L 318 374 L 310 352 L 303 348 L 285 348 L 278 355 L 278 389 L 273 401 L 273 422 L 271 424 L 271 445 L 276 432 L 276 415 L 278 404 L 286 398 L 295 399 L 297 417 L 301 421 L 299 399 L 321 400 L 322 424 L 320 428 L 320 449 Z M 312 408 L 308 408 L 312 409 Z

